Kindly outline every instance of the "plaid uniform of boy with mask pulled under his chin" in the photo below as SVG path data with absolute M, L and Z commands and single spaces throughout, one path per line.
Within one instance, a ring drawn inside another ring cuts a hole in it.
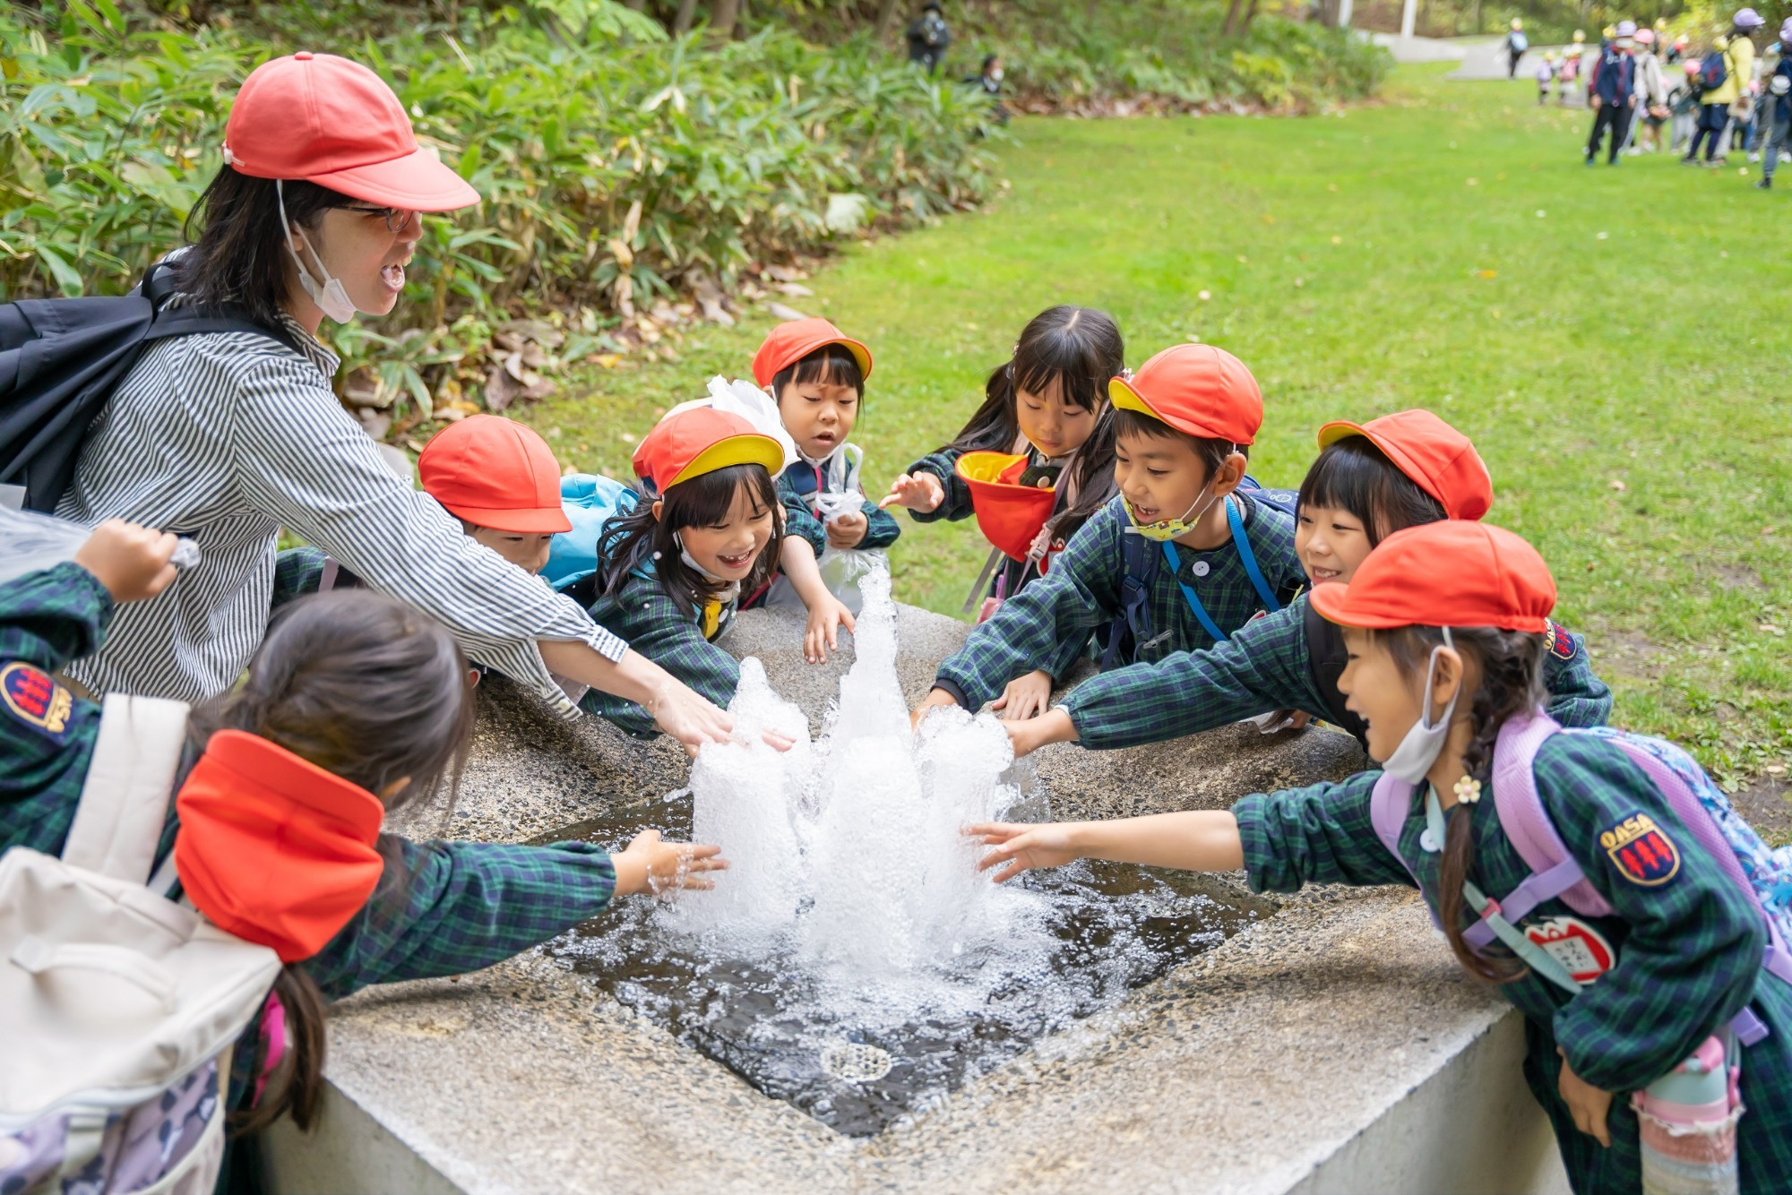
M 1306 580 L 1294 555 L 1294 520 L 1247 494 L 1238 498 L 1263 579 L 1281 602 L 1292 600 Z M 1116 496 L 1052 557 L 1045 577 L 1007 598 L 989 622 L 971 631 L 964 647 L 939 666 L 934 684 L 977 709 L 1009 681 L 1036 668 L 1063 677 L 1090 636 L 1120 615 L 1127 527 L 1131 521 Z M 1263 607 L 1231 537 L 1206 552 L 1176 545 L 1176 554 L 1177 570 L 1172 573 L 1165 561 L 1145 598 L 1156 627 L 1156 640 L 1138 652 L 1145 661 L 1213 643 L 1183 597 L 1183 584 L 1201 597 L 1220 631 L 1236 631 Z

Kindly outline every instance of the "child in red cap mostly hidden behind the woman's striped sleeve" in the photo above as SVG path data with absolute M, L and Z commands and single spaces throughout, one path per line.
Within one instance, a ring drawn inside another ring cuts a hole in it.
M 418 455 L 423 493 L 461 520 L 462 532 L 530 573 L 548 563 L 554 536 L 572 530 L 559 478 L 547 441 L 502 416 L 450 423 Z M 287 548 L 274 564 L 274 606 L 362 584 L 317 548 Z

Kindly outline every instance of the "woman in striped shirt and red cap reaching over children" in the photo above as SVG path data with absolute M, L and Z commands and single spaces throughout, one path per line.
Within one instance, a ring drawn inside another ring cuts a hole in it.
M 188 335 L 149 348 L 120 383 L 57 514 L 167 527 L 195 539 L 202 563 L 120 611 L 73 677 L 95 693 L 179 701 L 228 690 L 267 631 L 285 529 L 564 713 L 550 670 L 642 702 L 692 749 L 726 736 L 726 713 L 394 477 L 337 401 L 324 317 L 391 312 L 421 213 L 478 202 L 418 145 L 392 90 L 330 54 L 267 61 L 237 93 L 224 161 L 195 208 L 197 240 L 170 260 L 172 303 L 233 312 L 296 348 Z

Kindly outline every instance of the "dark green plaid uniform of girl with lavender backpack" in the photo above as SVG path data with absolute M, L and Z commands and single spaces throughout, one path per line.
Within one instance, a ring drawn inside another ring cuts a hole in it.
M 1412 876 L 1387 853 L 1369 817 L 1378 772 L 1339 785 L 1249 795 L 1233 806 L 1253 890 L 1288 892 L 1303 883 L 1405 883 Z M 1762 971 L 1765 928 L 1717 862 L 1686 831 L 1649 778 L 1618 749 L 1597 738 L 1557 735 L 1536 760 L 1538 794 L 1588 880 L 1611 901 L 1615 917 L 1579 917 L 1616 951 L 1616 966 L 1570 996 L 1527 975 L 1500 991 L 1525 1014 L 1525 1080 L 1548 1113 L 1579 1195 L 1633 1195 L 1641 1190 L 1636 1114 L 1627 1093 L 1670 1071 L 1693 1046 L 1745 1003 L 1769 1025 L 1767 1039 L 1742 1052 L 1742 1190 L 1792 1186 L 1792 985 Z M 1500 899 L 1530 874 L 1500 828 L 1493 794 L 1469 806 L 1475 840 L 1471 880 Z M 1641 887 L 1607 858 L 1598 835 L 1647 813 L 1677 847 L 1679 873 Z M 1419 846 L 1423 806 L 1416 801 L 1400 835 L 1400 853 L 1437 907 L 1437 855 Z M 1466 912 L 1466 916 L 1471 916 Z M 1577 916 L 1545 901 L 1525 921 Z M 1414 1014 L 1423 1021 L 1423 1010 Z M 1573 1127 L 1557 1093 L 1561 1046 L 1573 1071 L 1615 1093 L 1611 1148 Z

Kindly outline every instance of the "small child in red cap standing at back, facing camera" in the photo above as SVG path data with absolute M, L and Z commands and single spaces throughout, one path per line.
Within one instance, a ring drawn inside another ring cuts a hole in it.
M 808 523 L 815 523 L 828 541 L 821 559 L 828 591 L 855 613 L 860 568 L 844 563 L 862 561 L 844 554 L 887 548 L 901 536 L 892 514 L 866 502 L 858 480 L 864 453 L 846 439 L 869 378 L 871 349 L 826 319 L 778 324 L 753 357 L 753 380 L 772 396 L 799 457 L 778 475 L 788 529 L 799 532 L 785 550 L 799 552 L 812 539 Z M 769 600 L 788 604 L 796 595 L 787 589 L 788 577 L 780 577 Z

